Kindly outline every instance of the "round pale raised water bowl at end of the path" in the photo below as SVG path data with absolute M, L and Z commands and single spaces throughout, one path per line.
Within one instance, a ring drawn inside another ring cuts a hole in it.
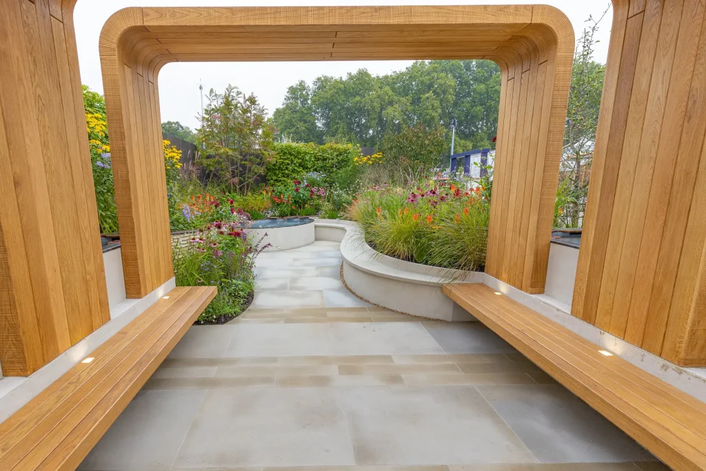
M 261 246 L 270 244 L 266 252 L 298 249 L 313 244 L 313 221 L 310 217 L 263 219 L 254 221 L 245 232 L 253 241 L 263 239 Z

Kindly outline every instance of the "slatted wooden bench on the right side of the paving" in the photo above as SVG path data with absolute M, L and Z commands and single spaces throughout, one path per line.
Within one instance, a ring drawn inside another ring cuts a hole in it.
M 675 470 L 706 469 L 706 404 L 481 284 L 443 292 Z

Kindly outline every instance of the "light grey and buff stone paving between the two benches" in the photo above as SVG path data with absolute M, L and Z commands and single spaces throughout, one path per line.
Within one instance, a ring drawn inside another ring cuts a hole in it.
M 193 326 L 80 469 L 666 469 L 482 324 L 371 306 L 340 263 L 262 254 L 250 309 Z

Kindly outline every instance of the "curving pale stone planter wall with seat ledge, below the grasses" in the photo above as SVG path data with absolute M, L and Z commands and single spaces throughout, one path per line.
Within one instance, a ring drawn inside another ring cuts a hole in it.
M 448 270 L 380 254 L 355 222 L 316 220 L 316 239 L 341 242 L 343 278 L 359 297 L 394 311 L 441 321 L 475 321 L 441 292 L 450 282 L 481 283 L 484 273 Z

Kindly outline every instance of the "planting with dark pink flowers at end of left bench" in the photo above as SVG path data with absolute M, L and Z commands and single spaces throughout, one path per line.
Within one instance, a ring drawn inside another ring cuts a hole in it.
M 213 222 L 172 251 L 177 286 L 215 286 L 218 294 L 196 323 L 224 323 L 241 314 L 255 286 L 253 266 L 265 246 L 237 222 Z

